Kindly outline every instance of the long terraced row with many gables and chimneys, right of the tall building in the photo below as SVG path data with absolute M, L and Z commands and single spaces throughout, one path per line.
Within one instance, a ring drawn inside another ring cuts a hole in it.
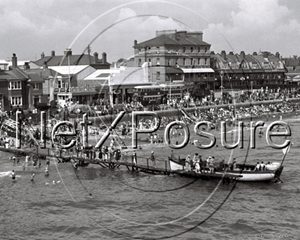
M 215 71 L 215 89 L 231 92 L 256 91 L 276 92 L 282 89 L 295 90 L 296 83 L 287 81 L 287 69 L 279 53 L 260 52 L 240 54 L 222 51 L 212 52 L 212 67 Z

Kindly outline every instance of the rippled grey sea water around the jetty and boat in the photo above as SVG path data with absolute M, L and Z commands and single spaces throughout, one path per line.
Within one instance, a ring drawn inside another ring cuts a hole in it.
M 230 183 L 175 175 L 148 175 L 125 167 L 74 170 L 51 161 L 22 169 L 0 153 L 0 239 L 299 239 L 300 123 L 287 120 L 292 148 L 283 183 Z M 264 131 L 265 132 L 265 131 Z M 214 134 L 218 134 L 217 131 Z M 126 141 L 126 139 L 123 139 Z M 127 139 L 130 142 L 130 139 Z M 175 154 L 198 152 L 238 162 L 281 161 L 283 153 L 257 139 L 257 148 L 200 150 L 190 144 Z M 170 148 L 144 143 L 138 161 L 154 150 L 163 167 Z M 16 180 L 10 177 L 16 171 Z M 31 181 L 32 174 L 34 180 Z

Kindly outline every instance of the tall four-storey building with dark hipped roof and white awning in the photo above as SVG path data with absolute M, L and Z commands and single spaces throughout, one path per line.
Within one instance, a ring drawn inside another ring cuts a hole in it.
M 134 41 L 134 66 L 147 67 L 153 84 L 183 83 L 195 96 L 213 89 L 210 47 L 200 31 L 157 31 L 156 37 Z

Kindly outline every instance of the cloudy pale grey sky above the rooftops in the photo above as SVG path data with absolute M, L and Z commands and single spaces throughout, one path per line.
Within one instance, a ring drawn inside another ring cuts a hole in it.
M 289 57 L 300 55 L 299 11 L 299 0 L 0 0 L 0 59 L 37 60 L 68 47 L 81 54 L 90 45 L 112 62 L 130 58 L 135 39 L 167 29 L 202 31 L 215 52 Z

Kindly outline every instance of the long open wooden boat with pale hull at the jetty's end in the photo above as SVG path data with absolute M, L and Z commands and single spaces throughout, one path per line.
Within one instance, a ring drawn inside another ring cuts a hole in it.
M 235 169 L 229 169 L 225 165 L 224 169 L 216 167 L 213 172 L 208 168 L 202 169 L 200 172 L 188 170 L 185 167 L 185 160 L 174 160 L 169 158 L 169 166 L 171 171 L 180 172 L 181 175 L 188 177 L 196 177 L 201 179 L 207 178 L 230 178 L 241 182 L 269 182 L 280 181 L 280 175 L 283 166 L 278 162 L 267 164 L 264 170 L 256 171 L 255 164 L 237 164 Z

